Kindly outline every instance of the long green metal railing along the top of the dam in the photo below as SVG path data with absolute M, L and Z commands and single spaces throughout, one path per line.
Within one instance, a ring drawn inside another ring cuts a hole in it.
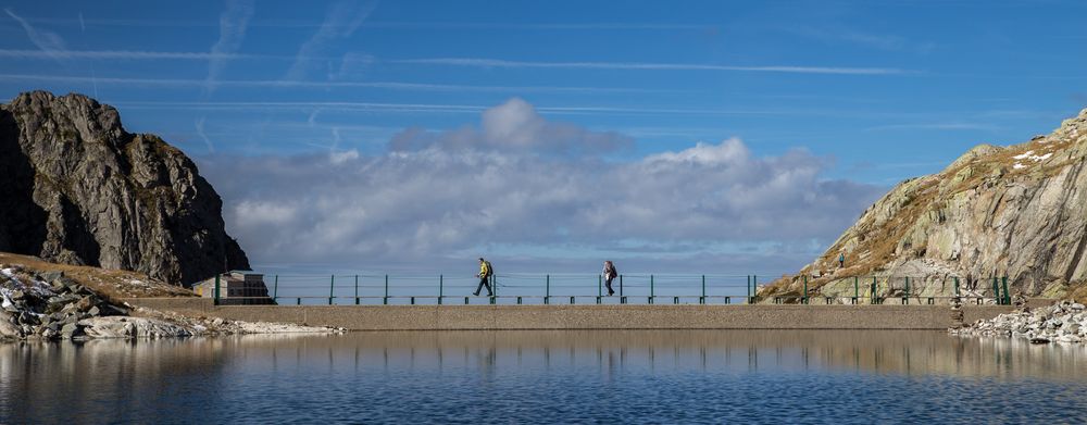
M 841 290 L 852 280 L 852 291 Z M 924 280 L 926 290 L 917 291 Z M 479 278 L 455 275 L 265 275 L 270 298 L 278 304 L 735 304 L 770 300 L 786 304 L 901 304 L 963 303 L 1011 304 L 1008 277 L 935 280 L 910 276 L 852 276 L 834 279 L 836 293 L 816 293 L 809 277 L 803 291 L 760 296 L 758 275 L 625 274 L 612 282 L 607 295 L 601 275 L 498 274 L 489 279 L 493 295 L 474 296 Z M 939 284 L 946 290 L 934 291 Z M 799 286 L 799 285 L 798 285 Z M 823 289 L 826 289 L 823 286 Z M 852 293 L 849 293 L 852 292 Z M 220 291 L 216 289 L 216 295 Z M 220 302 L 216 297 L 216 303 Z

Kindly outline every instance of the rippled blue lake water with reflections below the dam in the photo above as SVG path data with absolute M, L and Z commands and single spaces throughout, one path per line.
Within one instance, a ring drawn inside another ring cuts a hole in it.
M 0 423 L 1083 422 L 1085 359 L 1082 346 L 934 332 L 21 342 L 0 345 Z

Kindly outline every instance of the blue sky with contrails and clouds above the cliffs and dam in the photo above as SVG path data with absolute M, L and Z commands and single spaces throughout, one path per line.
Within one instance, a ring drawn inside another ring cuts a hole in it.
M 1087 107 L 1082 1 L 3 2 L 0 100 L 190 155 L 261 270 L 795 272 Z

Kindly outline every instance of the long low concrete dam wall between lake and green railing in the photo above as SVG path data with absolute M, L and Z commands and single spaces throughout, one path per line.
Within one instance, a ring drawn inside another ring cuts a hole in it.
M 953 324 L 948 305 L 214 305 L 208 298 L 126 301 L 192 316 L 350 330 L 947 329 Z M 972 323 L 1013 309 L 963 305 L 963 320 Z

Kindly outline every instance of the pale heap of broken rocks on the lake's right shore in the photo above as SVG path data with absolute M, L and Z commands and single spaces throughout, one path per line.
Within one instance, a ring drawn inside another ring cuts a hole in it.
M 980 320 L 948 333 L 955 336 L 999 336 L 1026 338 L 1033 343 L 1087 341 L 1087 310 L 1084 304 L 1060 301 L 1040 309 L 1021 307 L 1012 313 Z

